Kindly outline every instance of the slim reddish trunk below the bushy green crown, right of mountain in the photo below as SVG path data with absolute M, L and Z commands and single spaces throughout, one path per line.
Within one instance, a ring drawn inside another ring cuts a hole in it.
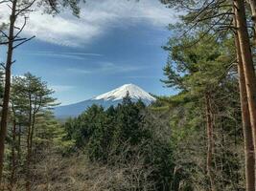
M 211 105 L 210 93 L 205 94 L 205 109 L 206 109 L 206 128 L 207 128 L 207 160 L 206 170 L 211 183 L 211 190 L 215 191 L 214 175 L 213 175 L 213 150 L 214 150 L 214 135 L 213 135 L 213 111 Z

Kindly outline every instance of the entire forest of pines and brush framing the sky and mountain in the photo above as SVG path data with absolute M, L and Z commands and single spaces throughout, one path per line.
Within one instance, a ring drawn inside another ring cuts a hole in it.
M 157 1 L 157 0 L 156 0 Z M 181 12 L 163 46 L 162 84 L 178 91 L 145 105 L 129 94 L 59 120 L 54 91 L 34 74 L 12 76 L 32 6 L 79 16 L 76 0 L 4 0 L 7 48 L 0 77 L 2 190 L 255 190 L 256 1 L 162 0 Z M 138 2 L 139 3 L 139 2 Z M 21 28 L 17 19 L 24 18 Z

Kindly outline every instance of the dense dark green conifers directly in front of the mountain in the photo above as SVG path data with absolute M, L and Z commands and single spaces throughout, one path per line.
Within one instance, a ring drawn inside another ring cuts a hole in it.
M 110 147 L 118 151 L 123 143 L 136 145 L 147 137 L 142 110 L 146 106 L 125 97 L 116 108 L 92 105 L 80 117 L 64 124 L 67 138 L 74 138 L 78 148 L 86 147 L 91 159 L 106 159 Z

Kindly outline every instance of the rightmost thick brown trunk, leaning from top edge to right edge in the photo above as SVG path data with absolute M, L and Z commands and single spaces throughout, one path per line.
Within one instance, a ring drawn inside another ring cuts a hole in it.
M 234 0 L 234 5 L 235 19 L 238 25 L 237 32 L 239 36 L 239 44 L 243 61 L 249 117 L 253 133 L 253 144 L 256 145 L 256 76 L 245 19 L 244 0 Z

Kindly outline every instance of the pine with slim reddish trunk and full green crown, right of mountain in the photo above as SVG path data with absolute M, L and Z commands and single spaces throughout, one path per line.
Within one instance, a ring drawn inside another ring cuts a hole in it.
M 214 124 L 216 109 L 213 106 L 216 89 L 221 88 L 221 79 L 232 61 L 232 52 L 225 48 L 225 42 L 209 36 L 207 42 L 198 42 L 197 47 L 187 48 L 187 45 L 201 38 L 201 33 L 170 41 L 166 50 L 171 57 L 164 68 L 168 87 L 178 88 L 190 99 L 204 100 L 204 116 L 207 129 L 207 159 L 206 171 L 211 189 L 216 190 L 213 174 Z M 195 39 L 196 38 L 196 39 Z M 175 42 L 175 43 L 174 43 Z M 205 52 L 205 50 L 208 50 Z

